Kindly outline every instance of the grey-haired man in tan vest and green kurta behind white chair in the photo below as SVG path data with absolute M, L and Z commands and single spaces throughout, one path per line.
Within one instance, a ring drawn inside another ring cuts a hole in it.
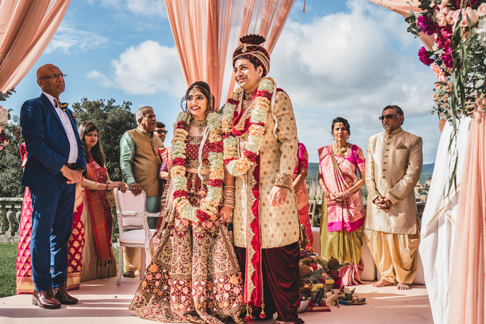
M 158 149 L 162 139 L 152 134 L 156 128 L 153 108 L 144 106 L 135 114 L 138 127 L 128 130 L 120 139 L 120 169 L 124 182 L 135 196 L 146 194 L 146 212 L 160 212 L 163 184 L 158 176 L 161 160 Z M 157 219 L 147 219 L 149 228 L 156 228 Z M 124 248 L 124 277 L 135 277 L 140 271 L 141 248 Z

